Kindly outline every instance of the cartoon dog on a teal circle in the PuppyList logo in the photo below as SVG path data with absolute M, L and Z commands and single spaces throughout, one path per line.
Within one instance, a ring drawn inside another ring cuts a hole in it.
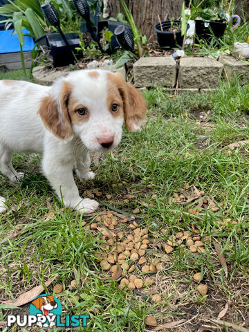
M 30 315 L 37 316 L 39 328 L 52 328 L 56 326 L 57 316 L 62 315 L 62 305 L 57 297 L 50 294 L 42 294 L 35 297 L 30 304 Z

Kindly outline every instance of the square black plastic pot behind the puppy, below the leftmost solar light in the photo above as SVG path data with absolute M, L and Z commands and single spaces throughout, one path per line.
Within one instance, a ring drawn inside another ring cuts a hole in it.
M 46 33 L 46 35 L 35 39 L 35 42 L 42 46 L 45 52 L 50 51 L 48 56 L 52 57 L 54 67 L 68 66 L 68 64 L 75 63 L 71 50 L 74 51 L 76 47 L 80 46 L 79 35 L 77 33 L 66 33 L 65 37 L 69 48 L 59 33 Z

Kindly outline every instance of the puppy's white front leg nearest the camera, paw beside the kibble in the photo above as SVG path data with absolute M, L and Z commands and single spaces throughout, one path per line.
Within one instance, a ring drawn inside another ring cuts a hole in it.
M 42 160 L 44 175 L 53 186 L 59 199 L 63 199 L 66 207 L 91 213 L 98 208 L 99 203 L 94 199 L 82 199 L 73 179 L 73 161 L 44 154 Z

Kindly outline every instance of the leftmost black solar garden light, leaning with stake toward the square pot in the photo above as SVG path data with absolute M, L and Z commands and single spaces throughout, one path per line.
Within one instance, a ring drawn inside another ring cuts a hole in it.
M 42 14 L 44 15 L 46 21 L 48 21 L 48 23 L 51 26 L 54 26 L 59 34 L 62 36 L 62 39 L 64 40 L 66 46 L 68 48 L 71 48 L 71 46 L 68 44 L 68 41 L 66 40 L 66 36 L 64 35 L 64 33 L 62 33 L 62 29 L 60 28 L 59 25 L 59 14 L 57 12 L 57 10 L 55 9 L 55 7 L 53 6 L 52 3 L 46 1 L 45 3 L 42 3 L 41 5 L 42 8 Z M 77 61 L 77 57 L 75 56 L 75 53 L 73 53 L 73 50 L 71 50 L 73 57 L 75 58 L 75 61 Z

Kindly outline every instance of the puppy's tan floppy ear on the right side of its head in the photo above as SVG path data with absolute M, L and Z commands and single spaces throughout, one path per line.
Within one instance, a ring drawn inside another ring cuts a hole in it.
M 145 118 L 146 103 L 140 91 L 127 83 L 127 96 L 124 98 L 124 122 L 129 131 L 139 131 Z

